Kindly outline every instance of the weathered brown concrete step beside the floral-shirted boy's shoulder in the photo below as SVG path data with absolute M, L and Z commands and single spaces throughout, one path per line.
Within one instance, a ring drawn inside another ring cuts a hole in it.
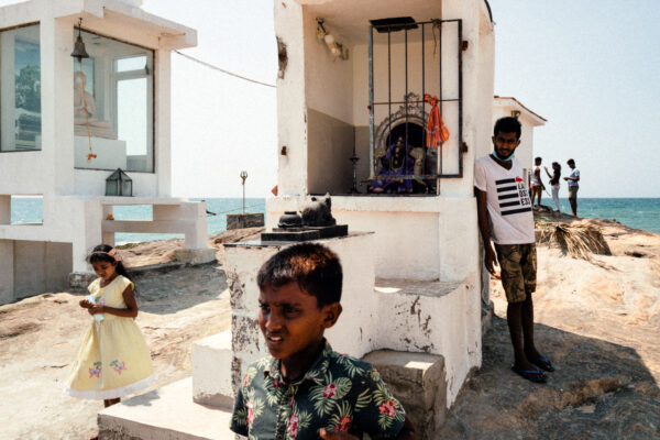
M 437 439 L 447 414 L 444 359 L 428 353 L 377 350 L 364 361 L 381 373 L 394 396 L 404 405 L 420 440 Z

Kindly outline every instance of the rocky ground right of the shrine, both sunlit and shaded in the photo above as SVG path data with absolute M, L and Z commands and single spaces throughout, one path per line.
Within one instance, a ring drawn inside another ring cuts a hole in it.
M 614 220 L 583 223 L 601 229 L 612 256 L 586 262 L 538 248 L 536 339 L 557 371 L 539 385 L 509 370 L 506 298 L 493 280 L 483 366 L 442 438 L 660 439 L 660 235 Z

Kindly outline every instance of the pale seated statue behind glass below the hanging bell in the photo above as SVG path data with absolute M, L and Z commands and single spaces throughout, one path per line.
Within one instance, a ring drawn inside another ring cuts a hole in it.
M 85 90 L 87 77 L 82 72 L 74 74 L 74 129 L 77 136 L 117 139 L 112 132 L 112 123 L 94 118 L 96 114 L 96 100 L 91 94 Z

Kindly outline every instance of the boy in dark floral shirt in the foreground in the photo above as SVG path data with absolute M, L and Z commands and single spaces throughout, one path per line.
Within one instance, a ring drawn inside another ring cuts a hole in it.
M 366 362 L 323 338 L 341 315 L 342 271 L 327 248 L 302 243 L 257 275 L 258 323 L 271 356 L 248 369 L 231 430 L 251 440 L 414 439 L 404 408 Z

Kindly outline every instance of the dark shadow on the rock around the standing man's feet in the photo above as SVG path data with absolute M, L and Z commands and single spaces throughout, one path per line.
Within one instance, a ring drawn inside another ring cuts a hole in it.
M 483 365 L 454 403 L 443 439 L 659 439 L 660 388 L 628 346 L 535 324 L 557 371 L 544 385 L 509 367 L 506 320 L 493 317 Z

